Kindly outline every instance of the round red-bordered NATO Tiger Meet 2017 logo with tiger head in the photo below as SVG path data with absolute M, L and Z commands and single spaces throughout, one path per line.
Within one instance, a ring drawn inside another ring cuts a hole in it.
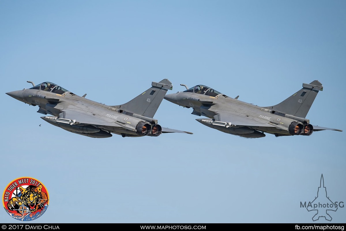
M 11 181 L 2 195 L 6 212 L 19 221 L 32 221 L 42 216 L 47 211 L 48 202 L 46 187 L 31 177 Z

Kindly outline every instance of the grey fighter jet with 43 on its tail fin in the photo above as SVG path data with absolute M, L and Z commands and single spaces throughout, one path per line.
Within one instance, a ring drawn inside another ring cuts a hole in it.
M 221 132 L 246 138 L 264 137 L 264 133 L 275 136 L 311 135 L 313 131 L 339 129 L 313 126 L 305 118 L 319 91 L 323 90 L 318 81 L 303 83 L 303 88 L 280 104 L 259 107 L 228 97 L 205 85 L 197 85 L 164 98 L 174 104 L 193 108 L 191 114 L 208 118 L 198 122 Z

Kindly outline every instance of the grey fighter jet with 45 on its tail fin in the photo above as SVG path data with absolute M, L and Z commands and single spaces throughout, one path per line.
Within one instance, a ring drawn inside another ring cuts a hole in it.
M 172 90 L 168 79 L 152 82 L 152 87 L 126 104 L 108 106 L 78 96 L 52 82 L 33 85 L 29 89 L 6 94 L 26 104 L 38 106 L 41 117 L 66 131 L 93 138 L 107 138 L 112 134 L 122 137 L 159 136 L 161 133 L 188 133 L 161 127 L 154 119 L 167 90 Z

